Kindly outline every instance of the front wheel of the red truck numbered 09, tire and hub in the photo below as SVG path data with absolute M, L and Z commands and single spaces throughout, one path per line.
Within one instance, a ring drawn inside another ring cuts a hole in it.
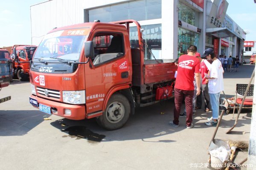
M 131 107 L 128 99 L 122 94 L 113 94 L 102 116 L 99 116 L 96 121 L 107 130 L 116 130 L 125 125 L 130 113 Z

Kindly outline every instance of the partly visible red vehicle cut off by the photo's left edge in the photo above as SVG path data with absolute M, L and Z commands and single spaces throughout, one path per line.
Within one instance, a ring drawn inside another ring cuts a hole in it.
M 10 53 L 6 49 L 0 48 L 0 90 L 7 87 L 12 81 L 12 61 L 10 59 Z M 11 99 L 11 96 L 7 96 L 0 99 L 0 103 L 6 102 Z

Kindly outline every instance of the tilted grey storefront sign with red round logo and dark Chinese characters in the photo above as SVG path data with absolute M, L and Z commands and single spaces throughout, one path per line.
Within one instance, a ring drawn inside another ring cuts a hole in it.
M 228 3 L 226 0 L 214 0 L 209 14 L 207 28 L 220 28 L 223 25 Z

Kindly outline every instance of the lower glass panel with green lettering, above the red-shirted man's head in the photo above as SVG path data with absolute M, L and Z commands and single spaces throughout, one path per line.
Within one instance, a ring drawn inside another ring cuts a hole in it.
M 198 47 L 199 34 L 178 28 L 178 57 L 183 54 L 187 54 L 189 45 L 195 45 Z

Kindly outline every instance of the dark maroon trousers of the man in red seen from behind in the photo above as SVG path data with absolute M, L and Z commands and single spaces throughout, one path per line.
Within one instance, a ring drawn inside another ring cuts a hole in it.
M 185 108 L 186 108 L 186 126 L 191 126 L 192 123 L 192 113 L 193 113 L 193 95 L 194 90 L 192 91 L 184 91 L 177 88 L 174 88 L 174 120 L 173 123 L 175 125 L 179 125 L 179 117 L 180 117 L 180 108 L 183 102 L 183 99 L 185 99 Z

